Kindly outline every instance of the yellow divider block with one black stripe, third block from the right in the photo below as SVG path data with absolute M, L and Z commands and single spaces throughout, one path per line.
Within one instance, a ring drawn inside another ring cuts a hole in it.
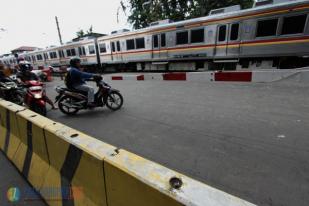
M 18 170 L 40 190 L 49 168 L 44 127 L 53 122 L 30 110 L 16 114 L 21 143 L 13 158 Z

